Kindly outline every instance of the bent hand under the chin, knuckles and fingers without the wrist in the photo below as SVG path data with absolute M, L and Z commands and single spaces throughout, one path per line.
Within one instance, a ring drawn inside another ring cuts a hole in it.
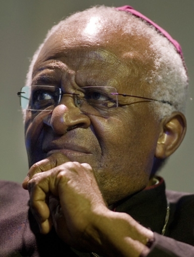
M 53 224 L 62 240 L 73 247 L 89 250 L 98 245 L 93 225 L 99 214 L 109 209 L 89 164 L 66 162 L 35 174 L 28 189 L 30 207 L 42 233 L 48 233 Z

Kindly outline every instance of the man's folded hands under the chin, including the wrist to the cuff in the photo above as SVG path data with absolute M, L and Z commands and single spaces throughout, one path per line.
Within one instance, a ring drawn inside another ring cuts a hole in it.
M 53 167 L 44 163 L 46 167 L 38 170 Z M 138 257 L 149 251 L 145 244 L 153 239 L 153 232 L 128 214 L 106 207 L 89 164 L 66 162 L 33 177 L 32 173 L 30 206 L 42 233 L 48 233 L 53 224 L 67 244 L 104 256 Z

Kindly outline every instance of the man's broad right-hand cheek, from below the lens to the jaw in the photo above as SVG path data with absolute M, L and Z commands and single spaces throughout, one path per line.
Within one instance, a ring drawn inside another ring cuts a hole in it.
M 96 177 L 110 204 L 146 187 L 158 131 L 153 117 L 143 113 L 124 113 L 94 123 L 102 148 Z

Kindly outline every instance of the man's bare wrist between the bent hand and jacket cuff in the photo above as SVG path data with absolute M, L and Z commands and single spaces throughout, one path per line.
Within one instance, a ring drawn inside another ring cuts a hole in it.
M 148 254 L 148 244 L 154 239 L 152 231 L 137 223 L 128 214 L 109 209 L 97 213 L 90 230 L 89 236 L 91 235 L 95 236 L 94 240 L 98 244 L 96 252 L 111 257 L 138 257 L 142 253 Z

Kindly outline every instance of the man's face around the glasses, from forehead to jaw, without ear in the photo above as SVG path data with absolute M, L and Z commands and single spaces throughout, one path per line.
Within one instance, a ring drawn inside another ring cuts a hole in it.
M 63 92 L 83 86 L 113 86 L 118 93 L 150 97 L 148 91 L 140 92 L 141 72 L 134 67 L 141 59 L 136 43 L 126 37 L 122 42 L 115 40 L 114 33 L 103 26 L 95 33 L 86 28 L 87 22 L 79 30 L 69 25 L 50 36 L 34 64 L 32 85 L 57 86 Z M 121 34 L 117 32 L 116 38 Z M 70 161 L 87 162 L 108 204 L 146 187 L 159 123 L 150 111 L 150 102 L 121 96 L 119 104 L 105 114 L 86 114 L 72 97 L 63 96 L 52 112 L 28 111 L 29 165 L 55 152 L 64 153 Z

